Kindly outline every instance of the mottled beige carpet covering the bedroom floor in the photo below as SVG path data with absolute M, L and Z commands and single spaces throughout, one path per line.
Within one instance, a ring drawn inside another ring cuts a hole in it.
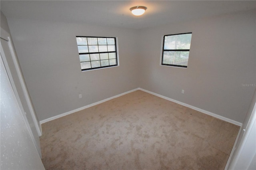
M 48 170 L 224 170 L 238 130 L 135 91 L 42 124 L 42 162 Z

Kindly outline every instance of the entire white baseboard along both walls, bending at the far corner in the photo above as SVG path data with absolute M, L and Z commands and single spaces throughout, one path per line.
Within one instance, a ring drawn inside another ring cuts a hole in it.
M 66 112 L 66 113 L 62 113 L 62 114 L 60 114 L 60 115 L 57 115 L 57 116 L 54 116 L 54 117 L 50 117 L 50 118 L 48 118 L 48 119 L 44 119 L 44 120 L 40 121 L 40 126 L 41 126 L 43 123 L 46 123 L 46 122 L 48 122 L 48 121 L 52 121 L 52 120 L 54 120 L 54 119 L 58 119 L 58 118 L 60 118 L 60 117 L 69 115 L 69 114 L 71 114 L 71 113 L 75 113 L 75 112 L 77 112 L 77 111 L 81 111 L 81 110 L 86 109 L 86 108 L 88 108 L 88 107 L 92 107 L 92 106 L 98 105 L 98 104 L 103 103 L 103 102 L 105 102 L 105 101 L 109 101 L 109 100 L 114 99 L 114 98 L 116 98 L 116 97 L 120 97 L 120 96 L 122 96 L 122 95 L 126 95 L 126 94 L 131 93 L 131 92 L 136 91 L 136 90 L 141 90 L 141 91 L 144 91 L 144 92 L 146 92 L 146 93 L 150 93 L 150 94 L 152 94 L 152 95 L 155 95 L 155 96 L 161 97 L 161 98 L 163 98 L 163 99 L 166 99 L 166 100 L 168 100 L 168 101 L 172 101 L 172 102 L 174 102 L 174 103 L 178 103 L 178 104 L 180 104 L 180 105 L 189 107 L 189 108 L 191 108 L 191 109 L 194 109 L 194 110 L 196 110 L 196 111 L 205 113 L 205 114 L 210 115 L 210 116 L 212 116 L 212 117 L 216 117 L 216 118 L 221 119 L 221 120 L 223 120 L 223 121 L 232 123 L 232 124 L 234 124 L 234 125 L 242 126 L 242 123 L 239 123 L 239 122 L 237 122 L 237 121 L 228 119 L 228 118 L 226 118 L 226 117 L 217 115 L 217 114 L 215 114 L 215 113 L 211 113 L 211 112 L 209 112 L 209 111 L 205 111 L 205 110 L 203 110 L 203 109 L 199 109 L 199 108 L 197 108 L 197 107 L 188 105 L 188 104 L 186 104 L 186 103 L 182 103 L 182 102 L 180 102 L 180 101 L 176 101 L 176 100 L 171 99 L 171 98 L 169 98 L 169 97 L 165 97 L 165 96 L 159 95 L 159 94 L 157 94 L 157 93 L 153 93 L 153 92 L 151 92 L 151 91 L 148 91 L 148 90 L 145 90 L 145 89 L 142 89 L 142 88 L 136 88 L 136 89 L 133 89 L 133 90 L 130 90 L 130 91 L 121 93 L 121 94 L 119 94 L 119 95 L 115 95 L 115 96 L 113 96 L 113 97 L 109 97 L 109 98 L 107 98 L 107 99 L 98 101 L 98 102 L 96 102 L 96 103 L 92 103 L 92 104 L 90 104 L 90 105 L 87 105 L 87 106 L 84 106 L 84 107 L 80 107 L 80 108 L 78 108 L 78 109 L 75 109 L 75 110 L 72 110 L 72 111 L 69 111 L 69 112 Z

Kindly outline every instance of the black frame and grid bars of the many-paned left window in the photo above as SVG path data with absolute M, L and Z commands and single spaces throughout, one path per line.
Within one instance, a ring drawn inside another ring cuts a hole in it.
M 114 41 L 115 41 L 115 51 L 104 51 L 104 52 L 88 52 L 88 53 L 79 53 L 79 50 L 78 50 L 78 55 L 80 56 L 80 55 L 83 55 L 83 54 L 100 54 L 100 53 L 116 53 L 116 64 L 115 65 L 105 65 L 105 66 L 100 66 L 100 67 L 93 67 L 92 68 L 92 65 L 91 65 L 91 68 L 87 68 L 87 69 L 82 69 L 81 68 L 81 70 L 82 71 L 86 71 L 86 70 L 93 70 L 93 69 L 101 69 L 101 68 L 106 68 L 106 67 L 114 67 L 114 66 L 118 66 L 118 49 L 117 49 L 117 46 L 116 46 L 116 37 L 96 37 L 96 36 L 76 36 L 76 38 L 78 38 L 78 37 L 81 37 L 81 38 L 86 38 L 86 40 L 87 40 L 87 38 L 97 38 L 97 41 L 98 41 L 98 38 L 114 38 Z M 108 44 L 107 44 L 108 45 Z M 113 44 L 111 44 L 111 45 L 113 45 Z M 77 44 L 77 47 L 78 46 L 80 46 L 80 45 L 78 45 Z M 88 45 L 88 40 L 87 40 L 87 46 L 89 47 L 89 45 Z M 99 46 L 99 44 L 97 45 L 97 46 Z M 80 57 L 79 57 L 80 58 Z M 107 60 L 107 59 L 103 59 L 103 60 Z M 109 60 L 109 58 L 108 58 L 108 60 Z M 101 59 L 99 59 L 99 60 L 93 60 L 93 61 L 102 61 Z M 80 61 L 80 63 L 83 63 L 83 62 L 88 62 L 88 61 Z M 91 59 L 90 59 L 90 62 L 91 62 Z M 100 64 L 101 64 L 101 62 L 100 62 Z M 80 65 L 81 66 L 81 65 Z

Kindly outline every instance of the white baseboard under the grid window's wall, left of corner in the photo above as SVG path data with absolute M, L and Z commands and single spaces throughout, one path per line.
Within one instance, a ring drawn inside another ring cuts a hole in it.
M 119 95 L 115 95 L 115 96 L 113 96 L 113 97 L 109 97 L 109 98 L 107 98 L 107 99 L 98 101 L 98 102 L 96 102 L 96 103 L 92 103 L 92 104 L 90 104 L 90 105 L 86 105 L 86 106 L 84 106 L 84 107 L 80 107 L 80 108 L 78 108 L 78 109 L 75 109 L 75 110 L 72 110 L 72 111 L 69 111 L 69 112 L 66 112 L 66 113 L 62 113 L 62 114 L 60 114 L 60 115 L 57 115 L 57 116 L 54 116 L 54 117 L 50 117 L 50 118 L 48 118 L 48 119 L 44 119 L 44 120 L 40 121 L 40 126 L 41 126 L 43 123 L 46 123 L 46 122 L 48 122 L 48 121 L 52 121 L 52 120 L 54 120 L 54 119 L 58 119 L 58 118 L 60 118 L 60 117 L 64 117 L 64 116 L 69 115 L 69 114 L 71 114 L 71 113 L 75 113 L 75 112 L 81 111 L 81 110 L 83 110 L 83 109 L 86 109 L 86 108 L 88 108 L 88 107 L 92 107 L 92 106 L 98 105 L 98 104 L 103 103 L 103 102 L 105 102 L 105 101 L 109 101 L 109 100 L 114 99 L 114 98 L 116 98 L 116 97 L 120 97 L 120 96 L 122 96 L 122 95 L 126 95 L 126 94 L 131 93 L 131 92 L 134 92 L 134 91 L 136 91 L 136 90 L 139 90 L 139 88 L 133 89 L 133 90 L 130 90 L 130 91 L 126 91 L 126 92 L 121 93 L 121 94 L 119 94 Z

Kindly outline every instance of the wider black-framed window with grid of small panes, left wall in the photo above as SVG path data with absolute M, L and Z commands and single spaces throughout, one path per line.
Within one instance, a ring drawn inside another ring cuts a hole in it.
M 116 66 L 116 38 L 76 36 L 82 71 Z

